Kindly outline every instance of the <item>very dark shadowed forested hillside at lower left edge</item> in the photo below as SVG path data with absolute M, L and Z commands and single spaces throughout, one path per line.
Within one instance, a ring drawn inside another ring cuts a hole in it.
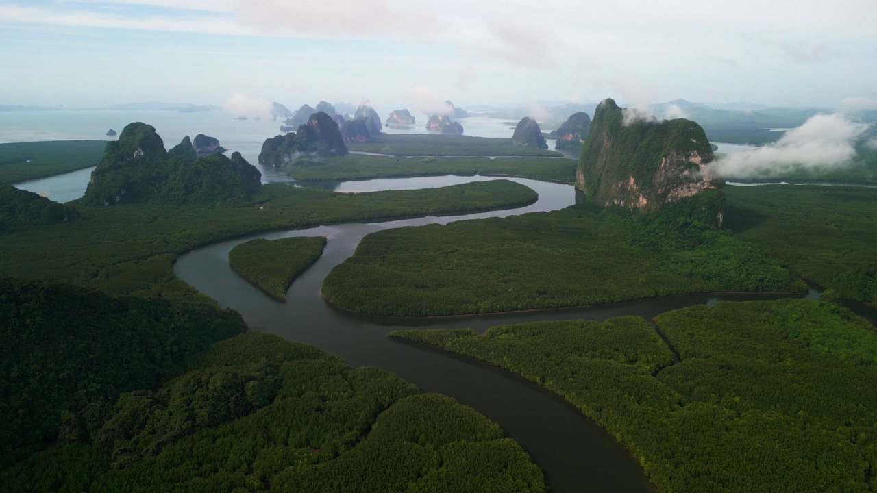
M 0 278 L 0 468 L 76 436 L 107 399 L 153 387 L 183 356 L 244 330 L 238 313 L 210 305 Z

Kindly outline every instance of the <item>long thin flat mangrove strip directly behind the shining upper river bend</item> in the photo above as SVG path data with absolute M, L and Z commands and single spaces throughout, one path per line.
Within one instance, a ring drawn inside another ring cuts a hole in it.
M 557 158 L 406 158 L 350 154 L 337 158 L 292 161 L 283 169 L 303 182 L 453 174 L 514 175 L 544 182 L 572 183 L 575 181 L 577 164 L 574 160 Z

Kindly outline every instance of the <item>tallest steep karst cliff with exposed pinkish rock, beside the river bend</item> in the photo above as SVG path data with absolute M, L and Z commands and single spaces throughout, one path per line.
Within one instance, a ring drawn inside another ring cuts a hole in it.
M 627 117 L 611 99 L 597 106 L 576 173 L 588 199 L 654 210 L 714 188 L 703 168 L 713 153 L 701 125 Z

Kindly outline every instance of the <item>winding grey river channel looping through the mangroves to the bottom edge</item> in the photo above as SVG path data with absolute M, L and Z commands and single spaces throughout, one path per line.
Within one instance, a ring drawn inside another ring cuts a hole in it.
M 489 179 L 494 178 L 402 178 L 344 182 L 333 188 L 346 191 L 410 189 Z M 496 421 L 531 454 L 545 472 L 546 480 L 555 492 L 654 491 L 638 461 L 602 427 L 560 397 L 502 369 L 430 347 L 390 339 L 387 333 L 400 327 L 471 327 L 483 332 L 492 325 L 538 320 L 602 320 L 622 315 L 638 315 L 651 319 L 663 311 L 692 304 L 715 304 L 721 300 L 775 299 L 781 296 L 704 294 L 652 298 L 596 307 L 457 318 L 364 316 L 339 310 L 320 297 L 320 286 L 325 275 L 353 255 L 360 239 L 368 233 L 407 225 L 446 224 L 460 219 L 554 211 L 575 202 L 575 191 L 571 185 L 517 178 L 511 180 L 536 190 L 538 202 L 514 210 L 469 215 L 320 225 L 300 230 L 258 233 L 183 254 L 176 261 L 174 270 L 182 280 L 214 298 L 220 305 L 239 311 L 253 330 L 275 333 L 286 339 L 312 344 L 344 358 L 354 367 L 368 365 L 386 369 L 417 384 L 424 392 L 439 392 L 472 406 Z M 327 183 L 322 185 L 329 188 Z M 249 239 L 317 235 L 328 237 L 324 254 L 293 282 L 287 292 L 286 303 L 267 297 L 228 266 L 228 253 L 232 247 Z M 818 293 L 811 290 L 809 297 L 818 297 Z

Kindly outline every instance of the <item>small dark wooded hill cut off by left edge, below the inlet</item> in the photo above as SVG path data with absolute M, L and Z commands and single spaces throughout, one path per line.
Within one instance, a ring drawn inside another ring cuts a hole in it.
M 0 185 L 0 233 L 24 226 L 54 225 L 80 219 L 73 207 L 12 185 Z

